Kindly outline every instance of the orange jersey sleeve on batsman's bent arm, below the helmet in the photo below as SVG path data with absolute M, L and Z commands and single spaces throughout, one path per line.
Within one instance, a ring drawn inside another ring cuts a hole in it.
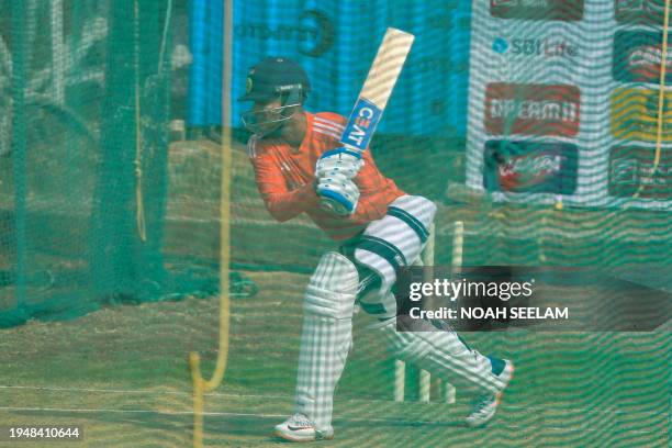
M 250 160 L 257 189 L 266 209 L 277 221 L 291 220 L 320 203 L 312 183 L 289 190 L 280 167 L 268 153 L 255 148 Z

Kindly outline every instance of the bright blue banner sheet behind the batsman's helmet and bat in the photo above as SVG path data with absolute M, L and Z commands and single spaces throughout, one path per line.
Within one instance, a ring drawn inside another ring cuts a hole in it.
M 349 115 L 388 26 L 415 41 L 379 133 L 460 136 L 467 133 L 468 1 L 236 0 L 233 30 L 233 114 L 250 104 L 248 69 L 267 56 L 284 56 L 306 70 L 306 109 Z M 189 124 L 222 123 L 222 2 L 193 0 Z

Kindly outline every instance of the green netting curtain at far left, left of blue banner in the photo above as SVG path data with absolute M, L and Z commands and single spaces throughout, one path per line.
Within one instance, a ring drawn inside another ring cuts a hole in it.
M 164 283 L 170 77 L 158 49 L 165 8 L 145 7 L 134 18 L 133 8 L 68 5 L 58 18 L 60 33 L 68 32 L 58 45 L 55 26 L 40 32 L 54 21 L 49 8 L 19 2 L 11 11 L 4 61 L 12 69 L 14 126 L 3 160 L 13 166 L 13 182 L 3 182 L 3 197 L 13 200 L 4 205 L 13 217 L 5 268 L 15 293 L 4 299 L 10 323 L 12 314 L 77 316 L 113 296 L 157 298 L 160 290 L 147 284 Z M 141 27 L 144 22 L 153 26 Z M 136 184 L 152 198 L 142 245 L 131 220 Z

